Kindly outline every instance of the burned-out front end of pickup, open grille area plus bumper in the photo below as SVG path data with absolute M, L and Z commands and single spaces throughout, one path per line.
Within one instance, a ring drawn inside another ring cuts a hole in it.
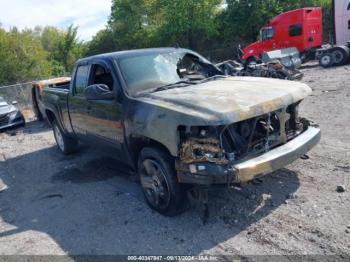
M 244 183 L 283 168 L 320 140 L 320 129 L 298 116 L 299 103 L 225 126 L 179 127 L 181 183 Z

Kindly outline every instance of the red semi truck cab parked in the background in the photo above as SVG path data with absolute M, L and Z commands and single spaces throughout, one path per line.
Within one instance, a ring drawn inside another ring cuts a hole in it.
M 304 59 L 314 57 L 323 44 L 322 9 L 301 8 L 282 13 L 260 30 L 259 40 L 243 49 L 248 64 L 259 61 L 265 52 L 296 47 Z

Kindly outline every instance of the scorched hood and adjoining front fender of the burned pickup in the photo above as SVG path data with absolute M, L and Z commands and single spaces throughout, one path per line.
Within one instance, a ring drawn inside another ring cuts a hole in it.
M 137 98 L 127 131 L 154 139 L 178 156 L 181 125 L 229 125 L 285 108 L 310 93 L 303 83 L 254 77 L 170 89 Z

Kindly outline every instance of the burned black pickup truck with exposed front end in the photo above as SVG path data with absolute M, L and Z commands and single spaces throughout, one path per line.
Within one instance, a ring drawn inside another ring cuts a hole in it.
M 43 103 L 63 153 L 78 141 L 113 148 L 140 176 L 147 203 L 175 215 L 196 186 L 244 183 L 298 159 L 320 140 L 299 116 L 302 83 L 227 77 L 180 48 L 103 54 L 76 63 L 70 89 Z

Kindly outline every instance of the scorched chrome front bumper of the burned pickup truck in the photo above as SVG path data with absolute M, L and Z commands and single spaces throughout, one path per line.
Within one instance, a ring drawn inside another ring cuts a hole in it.
M 201 185 L 248 182 L 257 176 L 271 173 L 294 162 L 310 151 L 320 139 L 321 130 L 310 126 L 288 143 L 242 162 L 217 165 L 207 162 L 185 164 L 177 161 L 178 180 L 180 183 Z

